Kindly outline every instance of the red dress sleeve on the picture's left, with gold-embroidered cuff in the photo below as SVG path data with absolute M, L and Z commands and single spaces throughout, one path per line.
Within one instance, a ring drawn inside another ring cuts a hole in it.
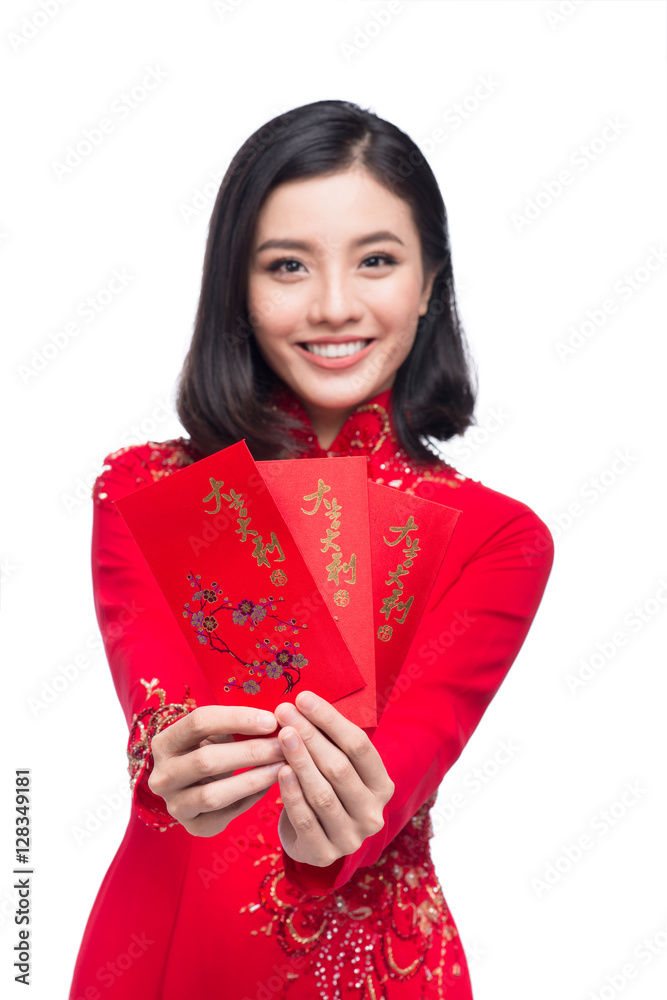
M 109 667 L 129 727 L 133 808 L 156 830 L 175 826 L 164 800 L 151 792 L 151 740 L 198 705 L 214 703 L 197 661 L 132 538 L 114 500 L 147 486 L 166 445 L 121 449 L 93 486 L 92 578 L 95 611 Z M 152 460 L 152 461 L 151 461 Z M 165 474 L 157 465 L 158 474 Z M 170 470 L 171 466 L 167 465 Z

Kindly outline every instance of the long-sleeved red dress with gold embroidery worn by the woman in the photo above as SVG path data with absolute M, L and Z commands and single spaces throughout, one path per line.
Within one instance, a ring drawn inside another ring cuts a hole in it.
M 276 396 L 310 428 L 289 391 Z M 97 617 L 130 729 L 132 811 L 79 950 L 70 1000 L 470 1000 L 434 872 L 429 809 L 526 637 L 553 559 L 525 504 L 399 448 L 391 389 L 357 407 L 328 451 L 462 511 L 393 694 L 372 735 L 396 789 L 384 828 L 329 868 L 282 849 L 274 784 L 215 837 L 193 837 L 147 785 L 150 739 L 214 702 L 111 501 L 196 461 L 187 439 L 121 448 L 93 488 Z M 400 665 L 397 664 L 397 670 Z

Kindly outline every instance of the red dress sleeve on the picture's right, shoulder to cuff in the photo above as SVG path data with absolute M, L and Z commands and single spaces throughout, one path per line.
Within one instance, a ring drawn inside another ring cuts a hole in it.
M 294 862 L 283 849 L 287 878 L 305 892 L 339 889 L 358 868 L 374 864 L 437 790 L 514 662 L 542 599 L 553 562 L 547 526 L 525 504 L 481 484 L 460 496 L 461 504 L 449 500 L 463 508 L 450 550 L 372 735 L 396 786 L 384 827 L 328 868 Z

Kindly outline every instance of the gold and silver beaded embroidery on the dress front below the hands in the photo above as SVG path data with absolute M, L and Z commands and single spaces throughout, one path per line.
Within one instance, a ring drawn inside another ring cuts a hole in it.
M 374 865 L 358 869 L 341 889 L 326 896 L 301 893 L 285 877 L 276 852 L 255 862 L 268 864 L 269 870 L 259 886 L 259 902 L 240 912 L 261 909 L 268 916 L 250 933 L 273 935 L 288 955 L 304 959 L 304 975 L 315 977 L 318 997 L 386 1000 L 390 980 L 415 977 L 424 988 L 430 983 L 440 987 L 433 995 L 445 996 L 443 984 L 460 978 L 458 932 L 428 844 L 434 802 L 435 793 Z M 288 977 L 284 997 L 298 978 L 295 973 Z

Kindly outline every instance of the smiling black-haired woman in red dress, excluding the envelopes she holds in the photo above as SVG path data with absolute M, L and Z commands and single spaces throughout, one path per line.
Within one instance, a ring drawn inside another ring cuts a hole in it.
M 429 447 L 472 424 L 474 395 L 445 207 L 408 136 L 340 101 L 251 136 L 211 219 L 178 397 L 190 436 L 121 448 L 93 490 L 133 807 L 71 998 L 472 996 L 429 809 L 553 556 L 530 508 Z M 275 713 L 216 705 L 112 505 L 242 438 L 258 460 L 364 455 L 373 481 L 461 511 L 375 730 L 309 692 Z

